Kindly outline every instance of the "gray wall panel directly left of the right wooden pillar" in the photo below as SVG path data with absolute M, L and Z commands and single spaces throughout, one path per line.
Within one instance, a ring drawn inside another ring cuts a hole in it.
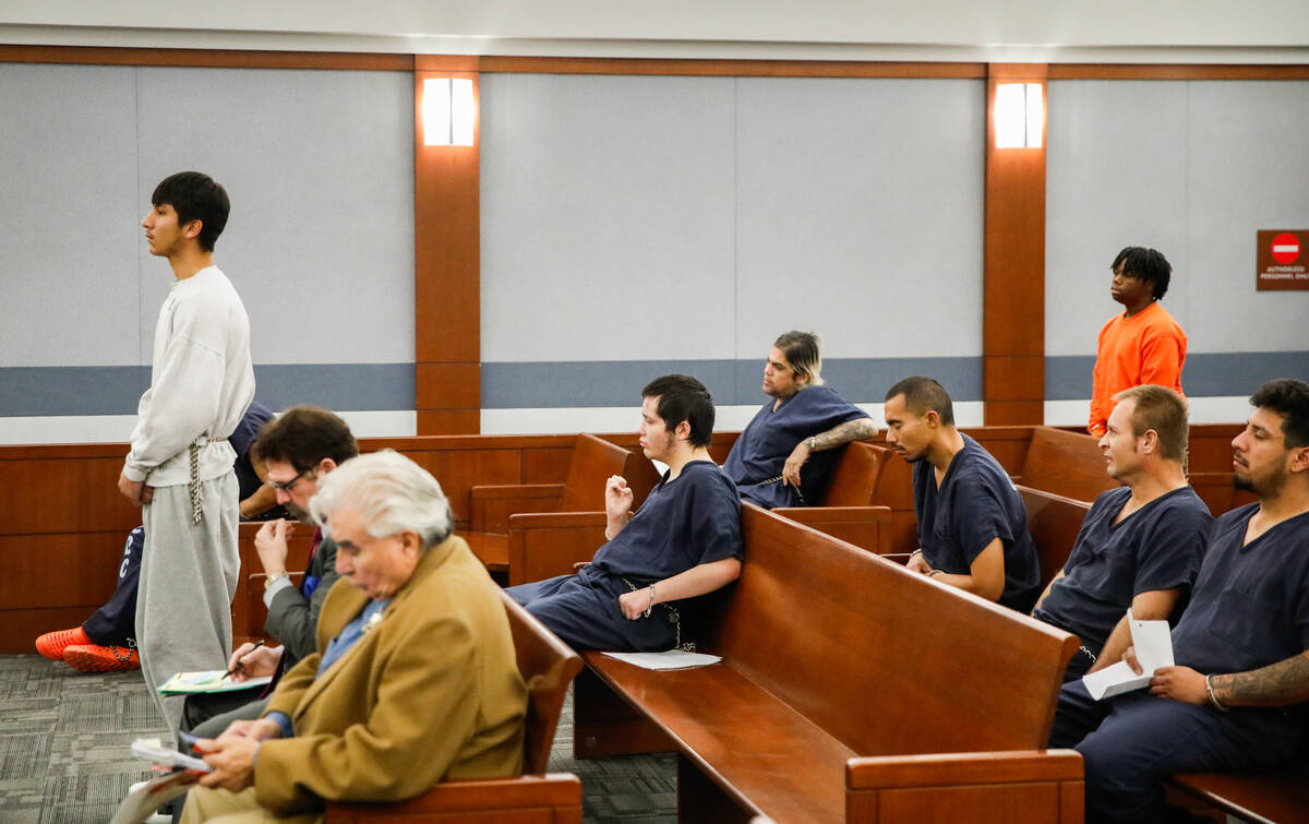
M 982 354 L 984 98 L 973 80 L 740 80 L 738 358 L 792 328 L 829 358 Z

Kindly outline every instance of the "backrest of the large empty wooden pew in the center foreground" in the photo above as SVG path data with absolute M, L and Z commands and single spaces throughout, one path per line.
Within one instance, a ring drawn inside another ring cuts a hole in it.
M 746 677 L 860 755 L 1045 747 L 1072 635 L 751 504 L 742 528 L 707 646 Z

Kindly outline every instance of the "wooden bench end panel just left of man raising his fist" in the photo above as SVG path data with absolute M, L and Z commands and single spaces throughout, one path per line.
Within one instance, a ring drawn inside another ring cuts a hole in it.
M 509 586 L 568 575 L 605 542 L 603 512 L 537 512 L 509 516 Z

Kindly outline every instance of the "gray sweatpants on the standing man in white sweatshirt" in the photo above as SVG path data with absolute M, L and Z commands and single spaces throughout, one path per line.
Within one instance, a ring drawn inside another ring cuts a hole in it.
M 136 596 L 136 646 L 141 675 L 175 736 L 182 698 L 157 689 L 174 672 L 226 669 L 232 652 L 232 597 L 237 550 L 237 477 L 200 483 L 204 519 L 191 523 L 185 483 L 161 486 L 144 507 L 145 550 Z

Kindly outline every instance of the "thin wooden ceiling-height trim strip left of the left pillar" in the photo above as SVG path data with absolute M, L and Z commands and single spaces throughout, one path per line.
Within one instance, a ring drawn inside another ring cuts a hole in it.
M 351 51 L 120 48 L 113 46 L 0 46 L 0 63 L 178 66 L 186 68 L 318 68 L 410 72 L 414 55 Z

